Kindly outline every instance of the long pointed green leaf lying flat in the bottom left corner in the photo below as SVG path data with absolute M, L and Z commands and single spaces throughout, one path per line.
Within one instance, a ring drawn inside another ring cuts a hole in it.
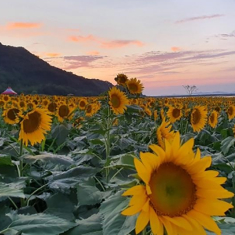
M 24 235 L 57 235 L 72 228 L 75 224 L 49 214 L 17 215 L 7 214 L 11 223 L 5 230 L 20 232 Z M 1 233 L 1 232 L 0 232 Z M 14 233 L 12 233 L 14 234 Z

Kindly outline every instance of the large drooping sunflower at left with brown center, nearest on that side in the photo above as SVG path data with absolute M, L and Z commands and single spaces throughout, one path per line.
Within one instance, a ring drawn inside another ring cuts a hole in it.
M 28 146 L 41 143 L 45 139 L 45 134 L 51 129 L 51 116 L 46 109 L 35 108 L 27 113 L 21 121 L 19 140 Z

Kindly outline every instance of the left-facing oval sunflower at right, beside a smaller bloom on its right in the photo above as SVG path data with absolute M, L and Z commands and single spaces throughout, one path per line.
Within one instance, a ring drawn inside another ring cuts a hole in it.
M 200 131 L 206 124 L 207 110 L 205 106 L 195 106 L 191 113 L 193 131 Z

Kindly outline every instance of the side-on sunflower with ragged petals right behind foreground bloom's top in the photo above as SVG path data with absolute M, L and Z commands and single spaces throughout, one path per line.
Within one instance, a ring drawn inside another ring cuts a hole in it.
M 163 149 L 165 149 L 164 140 L 167 139 L 169 142 L 172 142 L 174 138 L 174 131 L 171 131 L 172 125 L 170 122 L 165 121 L 165 117 L 163 117 L 161 125 L 157 128 L 156 135 L 158 145 L 160 145 Z

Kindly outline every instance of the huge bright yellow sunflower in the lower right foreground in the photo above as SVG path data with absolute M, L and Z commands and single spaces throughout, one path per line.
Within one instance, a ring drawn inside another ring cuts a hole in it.
M 206 235 L 208 229 L 217 235 L 221 231 L 211 216 L 224 216 L 233 206 L 221 198 L 231 198 L 233 193 L 221 184 L 225 177 L 218 172 L 206 171 L 211 157 L 201 158 L 200 150 L 193 153 L 194 140 L 180 146 L 179 132 L 166 149 L 157 145 L 149 147 L 154 153 L 140 153 L 141 161 L 134 159 L 138 176 L 144 184 L 123 193 L 132 196 L 129 207 L 122 211 L 131 216 L 139 213 L 136 234 L 150 222 L 153 234 Z

